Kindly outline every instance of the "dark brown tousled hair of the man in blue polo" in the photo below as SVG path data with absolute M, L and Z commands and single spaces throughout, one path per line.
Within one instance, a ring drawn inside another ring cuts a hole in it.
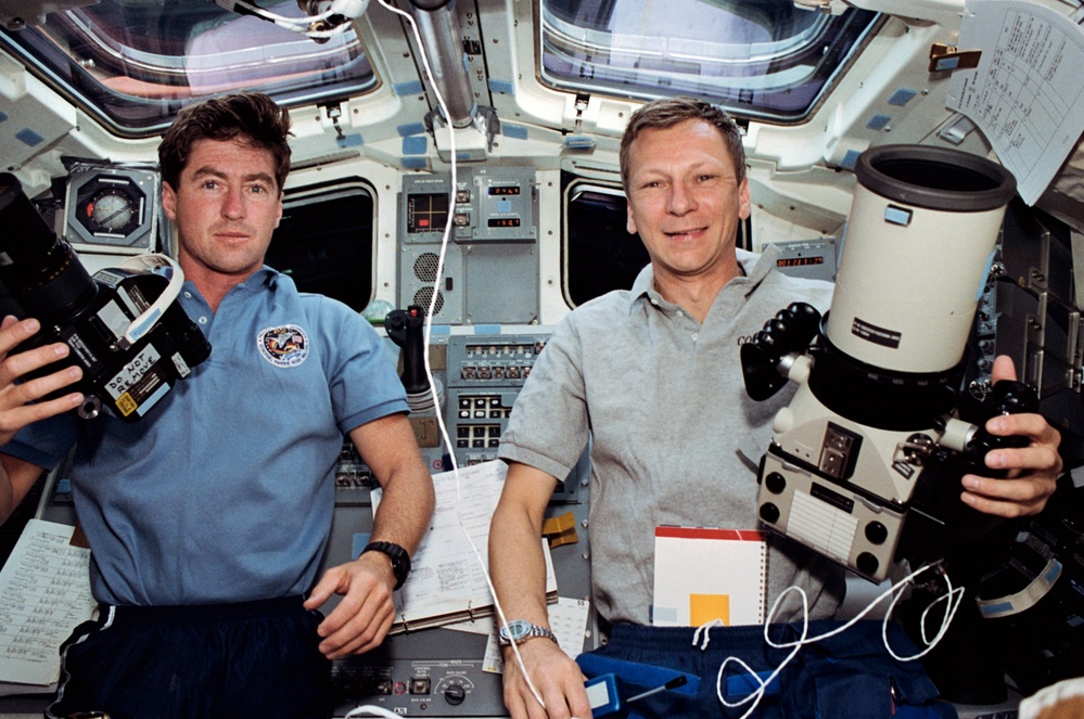
M 199 140 L 238 140 L 270 151 L 278 190 L 290 172 L 290 113 L 262 92 L 239 92 L 189 105 L 177 114 L 158 145 L 162 179 L 177 189 Z

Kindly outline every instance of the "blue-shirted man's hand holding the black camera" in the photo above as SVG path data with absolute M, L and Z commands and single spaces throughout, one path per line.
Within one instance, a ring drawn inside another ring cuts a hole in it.
M 40 328 L 37 320 L 18 321 L 11 316 L 0 322 L 0 445 L 7 445 L 26 425 L 75 409 L 82 402 L 84 398 L 79 393 L 43 402 L 35 401 L 78 381 L 82 376 L 82 370 L 78 367 L 68 367 L 17 384 L 28 373 L 68 355 L 68 347 L 64 343 L 11 354 L 12 349 L 37 334 Z

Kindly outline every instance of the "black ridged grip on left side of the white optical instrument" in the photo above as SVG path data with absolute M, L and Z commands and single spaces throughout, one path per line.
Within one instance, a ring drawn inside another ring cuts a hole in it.
M 779 310 L 764 329 L 741 346 L 741 373 L 745 394 L 756 401 L 771 397 L 787 384 L 779 361 L 791 352 L 804 352 L 820 329 L 820 312 L 813 305 L 792 303 Z

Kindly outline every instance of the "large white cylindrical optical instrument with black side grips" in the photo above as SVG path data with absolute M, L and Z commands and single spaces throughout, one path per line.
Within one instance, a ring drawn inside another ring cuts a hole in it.
M 1016 181 L 983 157 L 920 145 L 867 150 L 855 175 L 829 312 L 781 310 L 741 362 L 755 400 L 798 384 L 761 461 L 761 522 L 879 582 L 900 558 L 942 549 L 962 508 L 961 475 L 948 475 L 1002 441 L 959 419 L 958 394 Z M 996 411 L 1037 405 L 1024 385 L 994 389 L 1008 397 Z M 910 514 L 934 542 L 905 536 Z

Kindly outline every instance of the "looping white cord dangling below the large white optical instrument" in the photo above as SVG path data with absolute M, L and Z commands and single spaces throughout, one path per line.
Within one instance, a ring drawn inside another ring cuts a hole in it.
M 964 600 L 964 588 L 962 587 L 954 589 L 952 580 L 949 580 L 949 578 L 948 578 L 948 575 L 945 574 L 943 569 L 939 570 L 940 575 L 945 580 L 945 586 L 947 588 L 947 591 L 946 591 L 945 594 L 942 594 L 936 600 L 934 600 L 933 602 L 931 602 L 929 604 L 929 606 L 927 606 L 926 609 L 922 612 L 922 617 L 921 617 L 922 642 L 926 643 L 927 646 L 926 646 L 924 650 L 920 651 L 918 654 L 915 654 L 914 656 L 902 657 L 898 654 L 896 654 L 895 651 L 892 649 L 892 646 L 889 644 L 889 634 L 888 634 L 889 620 L 892 617 L 892 612 L 893 612 L 893 609 L 895 609 L 896 603 L 903 596 L 903 590 L 907 588 L 907 585 L 909 585 L 915 579 L 915 577 L 919 576 L 920 574 L 922 574 L 927 569 L 939 567 L 939 565 L 940 565 L 940 563 L 934 563 L 934 564 L 927 564 L 927 565 L 923 565 L 923 566 L 919 567 L 918 569 L 916 569 L 915 572 L 911 572 L 909 575 L 907 575 L 906 577 L 904 577 L 903 579 L 901 579 L 898 582 L 896 582 L 892 587 L 889 587 L 887 590 L 884 590 L 879 595 L 877 595 L 869 604 L 866 605 L 866 607 L 862 612 L 859 612 L 858 614 L 856 614 L 846 624 L 841 625 L 840 627 L 837 627 L 836 629 L 832 629 L 831 631 L 826 631 L 822 634 L 818 634 L 816 637 L 812 637 L 812 638 L 808 638 L 808 639 L 807 639 L 807 634 L 808 634 L 808 630 L 809 630 L 809 604 L 808 604 L 808 599 L 806 598 L 805 591 L 802 588 L 800 588 L 800 587 L 788 587 L 786 590 L 783 590 L 782 593 L 779 594 L 778 598 L 776 598 L 775 603 L 771 605 L 771 611 L 768 613 L 768 617 L 764 621 L 764 641 L 769 646 L 773 646 L 775 649 L 788 649 L 788 647 L 790 647 L 792 651 L 790 652 L 790 654 L 787 655 L 787 658 L 785 658 L 779 664 L 779 666 L 776 667 L 776 669 L 768 676 L 768 678 L 766 680 L 762 680 L 757 676 L 757 673 L 748 664 L 745 664 L 741 658 L 736 657 L 736 656 L 729 656 L 729 657 L 727 657 L 723 662 L 723 664 L 719 666 L 718 676 L 716 677 L 716 681 L 715 681 L 715 693 L 718 696 L 719 702 L 722 702 L 724 706 L 729 707 L 729 708 L 732 709 L 732 708 L 740 707 L 743 704 L 747 704 L 747 703 L 749 703 L 749 702 L 752 701 L 753 702 L 752 706 L 750 706 L 749 709 L 745 710 L 745 714 L 741 715 L 741 719 L 745 719 L 753 711 L 756 710 L 756 707 L 760 705 L 761 699 L 764 698 L 764 693 L 767 690 L 768 685 L 773 681 L 776 680 L 776 678 L 779 676 L 779 673 L 783 670 L 783 667 L 786 667 L 788 664 L 790 664 L 791 659 L 793 659 L 798 655 L 798 653 L 801 651 L 801 649 L 803 646 L 805 646 L 807 644 L 813 644 L 815 642 L 819 642 L 822 639 L 828 639 L 829 637 L 834 637 L 836 634 L 839 634 L 839 633 L 842 633 L 843 631 L 846 631 L 847 629 L 850 629 L 851 627 L 853 627 L 859 619 L 862 619 L 864 616 L 866 616 L 867 614 L 869 614 L 873 609 L 873 607 L 877 606 L 881 602 L 881 600 L 883 600 L 884 598 L 889 596 L 890 594 L 893 595 L 893 599 L 892 599 L 892 602 L 889 604 L 889 608 L 888 608 L 888 612 L 884 615 L 884 618 L 881 621 L 881 641 L 884 644 L 885 651 L 888 651 L 888 653 L 892 656 L 892 658 L 896 659 L 897 662 L 913 662 L 913 660 L 918 659 L 918 658 L 920 658 L 922 656 L 926 656 L 927 653 L 929 653 L 934 646 L 938 645 L 938 643 L 945 635 L 945 632 L 948 631 L 948 626 L 952 624 L 953 618 L 956 616 L 956 611 L 959 608 L 960 602 Z M 789 592 L 791 592 L 791 591 L 796 591 L 799 593 L 799 595 L 802 598 L 802 635 L 799 639 L 796 639 L 795 641 L 793 641 L 793 642 L 777 643 L 777 642 L 775 642 L 775 641 L 771 640 L 771 637 L 769 635 L 768 629 L 771 626 L 771 619 L 775 617 L 776 612 L 779 609 L 779 605 L 782 603 L 783 598 L 786 598 L 787 594 Z M 927 633 L 926 633 L 926 619 L 927 619 L 927 616 L 928 616 L 930 609 L 932 609 L 935 605 L 938 605 L 942 600 L 947 601 L 947 605 L 946 605 L 946 608 L 945 608 L 945 616 L 944 616 L 944 619 L 941 622 L 941 628 L 938 630 L 936 635 L 931 641 L 927 637 Z M 756 691 L 754 691 L 752 694 L 750 694 L 749 696 L 744 697 L 740 702 L 735 702 L 735 703 L 727 702 L 726 698 L 724 698 L 724 696 L 723 696 L 723 673 L 726 671 L 726 666 L 730 662 L 734 662 L 734 663 L 740 665 L 742 668 L 744 668 L 745 671 L 749 673 L 749 676 L 752 678 L 752 680 L 755 681 L 758 684 L 758 686 L 756 688 Z

